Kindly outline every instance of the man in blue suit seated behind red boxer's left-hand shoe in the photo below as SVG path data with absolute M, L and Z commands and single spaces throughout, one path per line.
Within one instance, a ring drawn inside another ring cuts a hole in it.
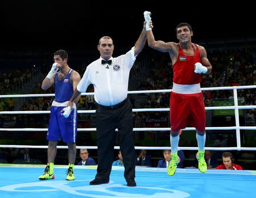
M 177 168 L 182 168 L 184 161 L 184 153 L 183 150 L 178 150 L 177 154 L 179 156 L 179 163 L 177 164 Z M 163 150 L 164 159 L 158 161 L 158 168 L 167 168 L 169 163 L 171 162 L 171 150 Z

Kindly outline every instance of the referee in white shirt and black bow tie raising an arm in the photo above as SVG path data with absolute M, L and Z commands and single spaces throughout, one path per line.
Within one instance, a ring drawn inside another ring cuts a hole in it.
M 93 84 L 94 99 L 98 104 L 96 109 L 98 167 L 96 177 L 90 185 L 109 183 L 114 158 L 114 134 L 117 128 L 127 186 L 136 186 L 132 107 L 127 99 L 127 89 L 130 69 L 145 43 L 144 27 L 135 46 L 126 54 L 113 58 L 113 40 L 109 36 L 101 37 L 98 42 L 100 58 L 87 66 L 84 76 L 69 100 L 68 109 L 64 109 L 63 115 L 68 116 L 73 101 L 81 92 L 86 92 L 90 84 Z

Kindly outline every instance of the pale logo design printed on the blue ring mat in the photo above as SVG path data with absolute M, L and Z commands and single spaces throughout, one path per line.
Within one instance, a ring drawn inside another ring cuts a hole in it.
M 74 187 L 73 182 L 76 182 Z M 133 192 L 130 193 L 131 188 L 124 186 L 123 184 L 114 184 L 110 181 L 109 184 L 102 184 L 98 186 L 82 186 L 85 182 L 89 183 L 89 180 L 76 180 L 76 181 L 47 181 L 47 182 L 32 182 L 32 183 L 19 183 L 9 186 L 0 187 L 0 191 L 10 192 L 44 192 L 47 197 L 47 191 L 63 191 L 72 195 L 91 197 L 91 198 L 110 198 L 110 197 L 147 197 L 147 198 L 185 198 L 190 194 L 183 191 L 176 191 L 174 189 L 155 188 L 155 187 L 133 187 Z M 71 184 L 70 186 L 68 184 Z M 80 185 L 81 184 L 81 185 Z M 46 188 L 47 187 L 47 188 Z M 127 191 L 126 191 L 127 189 Z M 156 192 L 160 191 L 160 192 Z M 99 195 L 101 192 L 102 195 Z M 146 193 L 145 193 L 146 192 Z M 1 193 L 2 194 L 2 193 Z M 61 194 L 59 195 L 61 197 Z

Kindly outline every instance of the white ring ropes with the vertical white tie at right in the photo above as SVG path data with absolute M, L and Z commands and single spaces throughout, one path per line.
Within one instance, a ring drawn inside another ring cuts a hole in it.
M 205 130 L 236 130 L 237 147 L 212 148 L 205 147 L 207 150 L 256 150 L 256 148 L 241 147 L 240 130 L 256 130 L 256 127 L 241 127 L 239 123 L 238 109 L 253 109 L 256 106 L 238 106 L 237 90 L 238 89 L 255 89 L 256 85 L 251 86 L 233 86 L 233 87 L 205 87 L 206 90 L 233 90 L 234 106 L 225 107 L 205 107 L 205 110 L 213 109 L 234 109 L 236 126 L 234 127 L 206 127 Z M 171 92 L 171 90 L 144 90 L 144 91 L 128 91 L 128 94 L 149 94 L 159 92 Z M 94 95 L 93 92 L 82 93 L 81 95 Z M 38 97 L 38 96 L 55 96 L 55 94 L 19 94 L 19 95 L 0 95 L 0 98 L 21 98 L 21 97 Z M 170 108 L 138 108 L 133 109 L 133 112 L 148 112 L 148 111 L 170 111 Z M 95 113 L 96 110 L 79 110 L 78 113 Z M 39 114 L 50 113 L 50 111 L 0 111 L 0 114 Z M 47 128 L 0 128 L 0 131 L 47 131 Z M 171 128 L 134 128 L 133 131 L 170 131 Z M 188 127 L 183 130 L 195 130 L 193 127 Z M 77 131 L 96 131 L 96 128 L 79 128 Z M 116 129 L 116 131 L 118 131 Z M 0 148 L 48 148 L 48 146 L 29 146 L 29 145 L 0 145 Z M 60 149 L 67 149 L 67 146 L 57 146 Z M 77 146 L 77 148 L 97 149 L 97 146 Z M 119 149 L 119 146 L 115 146 Z M 135 146 L 135 149 L 162 150 L 170 149 L 170 147 L 155 147 L 155 146 Z M 182 150 L 197 150 L 197 147 L 181 147 Z

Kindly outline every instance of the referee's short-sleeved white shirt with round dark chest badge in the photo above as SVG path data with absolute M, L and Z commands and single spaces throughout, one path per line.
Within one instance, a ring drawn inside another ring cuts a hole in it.
M 136 60 L 134 47 L 126 54 L 111 57 L 111 65 L 102 65 L 101 60 L 100 57 L 87 66 L 77 90 L 86 92 L 87 87 L 93 84 L 95 101 L 104 106 L 113 106 L 127 98 L 129 73 Z

